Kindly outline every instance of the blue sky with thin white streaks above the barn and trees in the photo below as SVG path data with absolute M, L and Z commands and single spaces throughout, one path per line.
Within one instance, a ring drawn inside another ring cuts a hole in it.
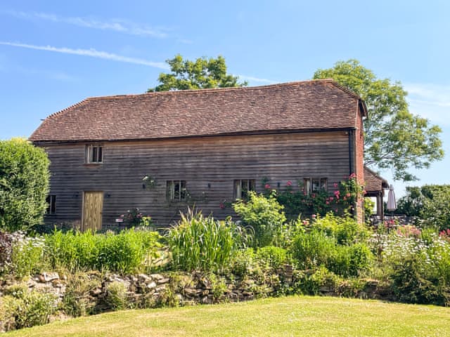
M 143 93 L 176 53 L 223 55 L 250 86 L 356 58 L 442 128 L 446 157 L 412 185 L 449 183 L 450 1 L 117 2 L 1 1 L 0 139 L 89 96 Z

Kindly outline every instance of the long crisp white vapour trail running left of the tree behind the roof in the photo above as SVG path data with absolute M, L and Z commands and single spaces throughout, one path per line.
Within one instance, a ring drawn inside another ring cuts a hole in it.
M 72 49 L 67 47 L 53 47 L 53 46 L 35 46 L 33 44 L 20 44 L 15 42 L 0 41 L 0 45 L 13 46 L 19 48 L 29 48 L 38 51 L 53 51 L 54 53 L 73 54 L 81 56 L 90 56 L 91 58 L 103 58 L 105 60 L 113 60 L 117 62 L 133 63 L 135 65 L 146 65 L 148 67 L 155 67 L 163 70 L 168 70 L 169 67 L 163 62 L 153 62 L 144 60 L 142 58 L 129 58 L 123 55 L 108 53 L 105 51 L 97 51 L 94 48 L 90 49 Z

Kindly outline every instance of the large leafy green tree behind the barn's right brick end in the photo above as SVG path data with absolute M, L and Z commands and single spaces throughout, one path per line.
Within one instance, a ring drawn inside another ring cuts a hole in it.
M 399 81 L 378 79 L 357 60 L 336 62 L 314 73 L 314 79 L 330 78 L 366 102 L 364 164 L 392 168 L 395 180 L 411 181 L 417 178 L 409 169 L 428 169 L 432 161 L 444 157 L 441 128 L 409 112 L 407 93 Z

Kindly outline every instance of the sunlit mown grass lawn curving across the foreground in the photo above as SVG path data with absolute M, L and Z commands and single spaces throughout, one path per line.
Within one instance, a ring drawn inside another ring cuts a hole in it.
M 290 296 L 248 303 L 127 310 L 6 336 L 450 336 L 450 308 Z

